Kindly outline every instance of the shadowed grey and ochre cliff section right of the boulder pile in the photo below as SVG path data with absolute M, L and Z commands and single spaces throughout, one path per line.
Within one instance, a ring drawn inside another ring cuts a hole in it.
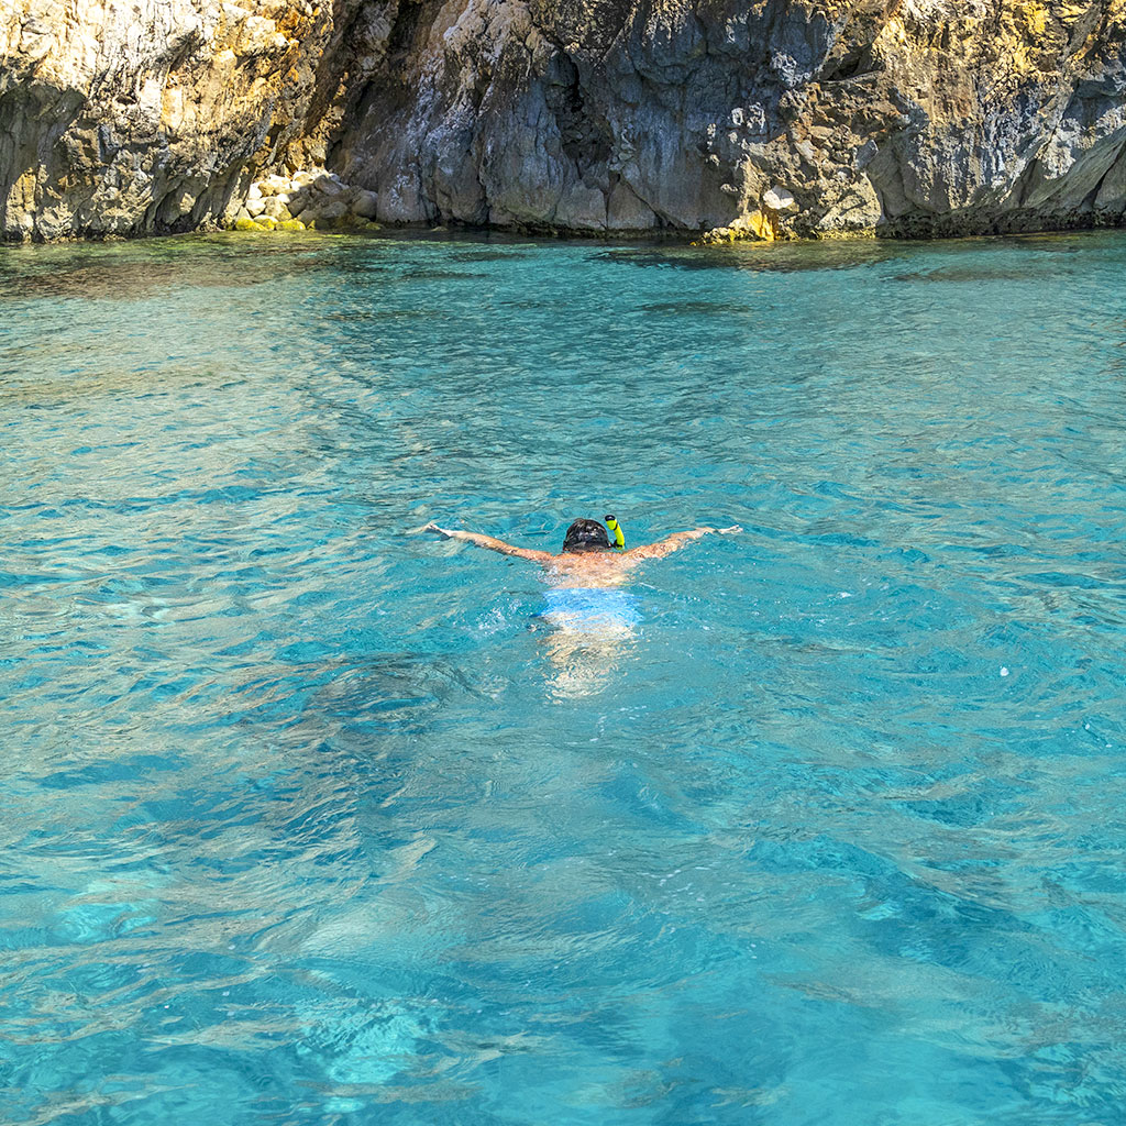
M 803 235 L 1126 212 L 1121 3 L 456 0 L 441 12 L 409 73 L 377 71 L 345 117 L 338 167 L 378 193 L 382 218 L 740 236 L 760 200 L 778 234 Z

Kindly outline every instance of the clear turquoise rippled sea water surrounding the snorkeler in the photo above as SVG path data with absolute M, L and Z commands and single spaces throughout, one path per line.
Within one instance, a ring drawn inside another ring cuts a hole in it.
M 1119 1121 L 1124 280 L 5 250 L 0 1118 Z

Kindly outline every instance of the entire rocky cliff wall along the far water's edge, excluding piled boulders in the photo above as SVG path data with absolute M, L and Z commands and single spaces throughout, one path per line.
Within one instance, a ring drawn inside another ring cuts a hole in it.
M 7 238 L 327 166 L 382 221 L 958 234 L 1126 214 L 1126 0 L 0 0 Z

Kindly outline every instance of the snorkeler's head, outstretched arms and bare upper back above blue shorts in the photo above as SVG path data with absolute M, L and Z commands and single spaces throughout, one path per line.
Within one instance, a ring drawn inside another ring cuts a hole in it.
M 655 544 L 644 544 L 640 547 L 625 549 L 625 540 L 613 516 L 606 517 L 606 522 L 615 534 L 618 547 L 610 544 L 606 528 L 598 520 L 575 520 L 563 537 L 563 549 L 558 554 L 537 552 L 528 547 L 516 547 L 506 544 L 503 539 L 485 536 L 477 531 L 463 531 L 459 528 L 439 528 L 437 524 L 428 524 L 420 531 L 432 531 L 445 539 L 464 539 L 488 547 L 502 555 L 528 560 L 544 568 L 558 587 L 616 587 L 626 581 L 628 572 L 646 560 L 659 560 L 678 551 L 685 544 L 701 536 L 730 536 L 743 529 L 739 525 L 730 528 L 694 528 L 691 531 L 676 531 Z

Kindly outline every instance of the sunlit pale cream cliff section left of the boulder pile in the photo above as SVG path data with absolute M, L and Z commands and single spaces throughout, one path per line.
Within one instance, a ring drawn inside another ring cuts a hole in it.
M 214 223 L 251 164 L 315 146 L 332 33 L 301 2 L 0 0 L 2 233 Z

